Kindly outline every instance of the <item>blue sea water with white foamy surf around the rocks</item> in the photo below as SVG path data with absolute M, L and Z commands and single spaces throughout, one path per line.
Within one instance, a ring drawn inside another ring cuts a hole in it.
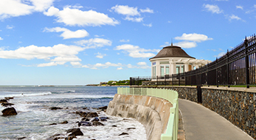
M 108 106 L 116 93 L 114 86 L 0 86 L 0 99 L 14 97 L 8 103 L 13 103 L 18 112 L 10 117 L 1 116 L 0 112 L 0 139 L 48 139 L 66 134 L 65 130 L 78 128 L 76 122 L 83 118 L 75 111 L 97 111 L 94 108 Z M 62 109 L 51 110 L 52 107 Z M 0 111 L 4 108 L 0 106 Z M 102 122 L 104 126 L 80 126 L 83 136 L 77 139 L 146 139 L 144 126 L 135 119 L 111 117 L 104 111 L 98 114 L 109 118 Z M 69 123 L 60 124 L 64 121 Z M 119 136 L 123 132 L 128 135 Z

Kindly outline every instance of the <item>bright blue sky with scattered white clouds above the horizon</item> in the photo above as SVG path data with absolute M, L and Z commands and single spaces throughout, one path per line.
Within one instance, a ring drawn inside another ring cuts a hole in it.
M 0 0 L 0 85 L 151 76 L 149 59 L 171 42 L 214 61 L 255 23 L 252 0 Z

